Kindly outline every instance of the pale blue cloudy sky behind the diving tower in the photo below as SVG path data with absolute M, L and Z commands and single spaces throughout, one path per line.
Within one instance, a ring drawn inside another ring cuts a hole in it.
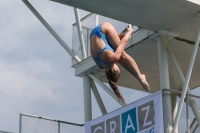
M 29 1 L 71 47 L 73 8 Z M 81 17 L 86 14 L 80 12 Z M 19 113 L 83 123 L 82 79 L 74 76 L 68 53 L 21 0 L 1 0 L 0 16 L 0 130 L 18 132 Z M 148 95 L 120 89 L 127 103 Z M 108 112 L 120 107 L 99 91 Z M 95 118 L 101 112 L 92 99 Z

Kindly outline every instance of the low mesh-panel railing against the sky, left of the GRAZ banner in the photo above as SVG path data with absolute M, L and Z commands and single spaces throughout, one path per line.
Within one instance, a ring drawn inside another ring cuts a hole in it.
M 19 133 L 84 133 L 84 124 L 22 113 L 20 114 Z

